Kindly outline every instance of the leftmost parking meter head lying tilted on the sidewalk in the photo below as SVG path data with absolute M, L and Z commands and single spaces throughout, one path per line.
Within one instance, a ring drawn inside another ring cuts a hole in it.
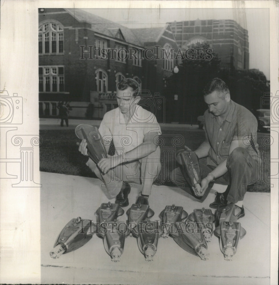
M 72 219 L 59 234 L 50 256 L 57 259 L 62 254 L 82 247 L 92 238 L 95 231 L 95 224 L 91 220 L 84 220 L 80 217 Z

